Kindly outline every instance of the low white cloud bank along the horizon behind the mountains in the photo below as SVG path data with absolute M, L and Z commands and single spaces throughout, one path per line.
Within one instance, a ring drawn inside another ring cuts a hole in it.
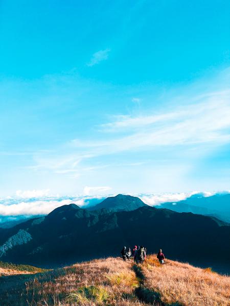
M 0 223 L 1 216 L 37 216 L 37 215 L 47 215 L 55 208 L 62 205 L 68 205 L 70 203 L 75 203 L 80 207 L 94 206 L 101 202 L 106 196 L 89 196 L 76 195 L 76 196 L 48 196 L 49 191 L 27 191 L 27 192 L 17 192 L 15 197 L 7 197 L 0 199 Z M 226 192 L 225 192 L 226 193 Z M 227 191 L 229 193 L 229 191 Z M 135 196 L 140 197 L 146 204 L 150 206 L 157 206 L 165 202 L 177 202 L 180 200 L 185 200 L 191 196 L 212 196 L 215 193 L 212 192 L 182 192 L 182 193 L 164 193 L 164 194 L 135 194 Z M 40 196 L 39 196 L 40 195 Z M 114 194 L 112 194 L 114 195 Z

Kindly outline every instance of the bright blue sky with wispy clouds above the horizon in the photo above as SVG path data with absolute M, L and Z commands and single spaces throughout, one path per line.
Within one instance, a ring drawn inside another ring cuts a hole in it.
M 229 13 L 2 1 L 0 196 L 229 190 Z

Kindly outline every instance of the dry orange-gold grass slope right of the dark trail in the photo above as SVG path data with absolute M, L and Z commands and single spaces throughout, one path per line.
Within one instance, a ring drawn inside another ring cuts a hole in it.
M 200 269 L 189 264 L 167 260 L 160 265 L 155 256 L 143 265 L 145 287 L 160 294 L 164 303 L 186 306 L 229 306 L 230 277 L 211 268 Z

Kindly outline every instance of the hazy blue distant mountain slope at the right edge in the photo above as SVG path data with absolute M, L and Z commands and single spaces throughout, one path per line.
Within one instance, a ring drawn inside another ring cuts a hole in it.
M 156 208 L 167 208 L 179 213 L 210 215 L 230 222 L 230 194 L 216 194 L 209 197 L 196 194 L 186 200 L 162 203 Z

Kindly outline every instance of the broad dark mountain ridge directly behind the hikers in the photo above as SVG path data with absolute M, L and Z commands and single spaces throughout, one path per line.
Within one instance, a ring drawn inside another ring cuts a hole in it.
M 148 252 L 163 248 L 169 258 L 210 265 L 229 262 L 229 237 L 230 226 L 207 216 L 149 206 L 89 211 L 71 204 L 0 228 L 0 261 L 49 267 L 119 255 L 123 245 L 143 244 Z

